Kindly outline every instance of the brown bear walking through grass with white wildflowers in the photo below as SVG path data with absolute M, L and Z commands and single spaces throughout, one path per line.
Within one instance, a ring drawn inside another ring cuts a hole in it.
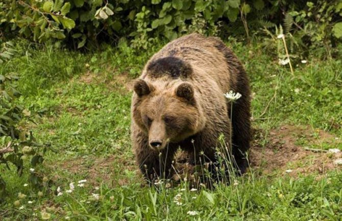
M 232 115 L 224 96 L 230 90 L 242 95 Z M 239 173 L 245 172 L 251 139 L 249 80 L 219 38 L 190 34 L 166 44 L 136 80 L 131 111 L 133 149 L 149 180 L 170 176 L 179 147 L 192 164 L 201 156 L 202 163 L 217 161 L 222 134 Z

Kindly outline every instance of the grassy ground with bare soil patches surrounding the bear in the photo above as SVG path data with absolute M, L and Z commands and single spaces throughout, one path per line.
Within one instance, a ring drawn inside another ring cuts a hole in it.
M 342 220 L 342 173 L 334 164 L 342 156 L 305 150 L 342 150 L 341 61 L 310 57 L 294 64 L 292 76 L 258 45 L 227 43 L 254 92 L 252 167 L 233 185 L 195 191 L 186 181 L 141 185 L 131 151 L 131 81 L 162 43 L 149 52 L 92 55 L 19 43 L 22 56 L 0 66 L 0 75 L 20 74 L 20 103 L 39 123 L 22 127 L 57 152 L 34 172 L 26 162 L 21 178 L 0 166 L 9 192 L 0 220 Z M 50 182 L 24 186 L 30 173 Z

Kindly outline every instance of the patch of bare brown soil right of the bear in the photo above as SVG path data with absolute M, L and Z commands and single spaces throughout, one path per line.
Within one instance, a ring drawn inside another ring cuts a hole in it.
M 265 145 L 260 144 L 260 136 L 262 133 L 255 133 L 250 150 L 250 164 L 259 169 L 261 175 L 288 173 L 296 177 L 299 174 L 325 174 L 326 171 L 338 167 L 334 160 L 342 157 L 341 152 L 333 154 L 315 151 L 316 149 L 309 150 L 308 148 L 315 144 L 333 144 L 334 136 L 322 130 L 313 131 L 308 126 L 285 125 L 272 130 Z M 308 145 L 296 144 L 300 138 L 307 140 Z

